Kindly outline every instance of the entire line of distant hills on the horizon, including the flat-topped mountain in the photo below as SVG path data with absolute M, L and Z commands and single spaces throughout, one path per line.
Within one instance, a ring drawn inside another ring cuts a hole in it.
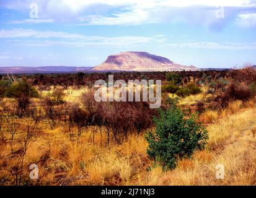
M 256 69 L 256 66 L 253 66 Z M 225 68 L 227 69 L 227 68 Z M 225 70 L 224 68 L 197 68 L 195 66 L 182 66 L 162 56 L 146 52 L 128 51 L 108 56 L 106 61 L 95 67 L 0 67 L 0 74 L 50 74 L 50 73 L 76 73 L 76 72 L 121 72 L 121 71 L 203 71 Z

